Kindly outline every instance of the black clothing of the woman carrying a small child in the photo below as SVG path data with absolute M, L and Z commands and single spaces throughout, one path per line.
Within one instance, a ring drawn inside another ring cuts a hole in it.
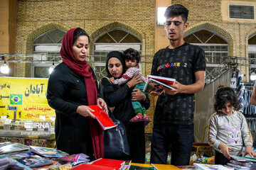
M 132 108 L 132 89 L 127 84 L 112 84 L 107 78 L 100 81 L 100 94 L 107 103 L 107 106 L 114 106 L 113 115 L 121 120 L 126 127 L 127 140 L 129 142 L 130 157 L 132 162 L 145 162 L 145 135 L 144 122 L 129 123 L 129 120 L 136 114 Z M 150 106 L 149 98 L 142 103 L 147 109 Z

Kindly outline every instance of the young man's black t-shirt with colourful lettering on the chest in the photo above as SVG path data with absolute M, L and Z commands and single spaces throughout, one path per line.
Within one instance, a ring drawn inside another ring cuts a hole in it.
M 204 51 L 197 45 L 184 43 L 175 49 L 168 47 L 154 55 L 151 75 L 176 79 L 181 84 L 196 82 L 195 72 L 206 70 Z M 154 113 L 154 123 L 190 125 L 193 123 L 194 94 L 161 94 Z

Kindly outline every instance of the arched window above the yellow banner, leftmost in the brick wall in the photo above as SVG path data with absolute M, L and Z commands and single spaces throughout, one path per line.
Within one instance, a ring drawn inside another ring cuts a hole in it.
M 59 52 L 64 35 L 64 30 L 56 28 L 39 35 L 33 41 L 34 62 L 31 67 L 33 77 L 49 77 L 48 69 L 50 66 L 52 66 L 53 60 L 55 60 L 55 65 L 58 64 L 58 60 L 61 61 Z M 42 61 L 49 62 L 44 63 Z

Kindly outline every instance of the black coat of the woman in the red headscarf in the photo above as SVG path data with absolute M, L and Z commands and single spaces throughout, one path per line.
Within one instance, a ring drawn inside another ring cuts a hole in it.
M 97 85 L 94 72 L 92 76 Z M 75 74 L 64 62 L 59 64 L 50 74 L 47 99 L 56 113 L 57 148 L 68 154 L 84 153 L 93 159 L 88 117 L 76 113 L 78 106 L 87 105 L 84 77 Z

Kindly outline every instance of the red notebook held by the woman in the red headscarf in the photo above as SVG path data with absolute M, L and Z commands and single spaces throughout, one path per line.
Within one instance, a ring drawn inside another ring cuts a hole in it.
M 113 121 L 107 115 L 107 113 L 105 113 L 105 111 L 103 111 L 99 106 L 91 105 L 88 107 L 92 108 L 92 110 L 94 111 L 92 112 L 92 114 L 95 115 L 97 121 L 100 123 L 100 126 L 102 127 L 102 130 L 108 130 L 117 126 L 113 123 Z

